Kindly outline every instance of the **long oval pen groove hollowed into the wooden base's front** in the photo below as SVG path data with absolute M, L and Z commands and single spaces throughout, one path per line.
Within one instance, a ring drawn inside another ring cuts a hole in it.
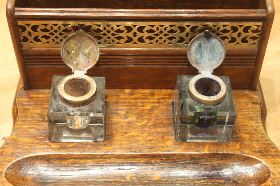
M 252 173 L 247 174 L 235 166 Z M 36 174 L 33 173 L 34 168 L 38 170 Z M 86 174 L 79 174 L 81 170 Z M 30 179 L 22 178 L 23 175 Z M 201 184 L 204 181 L 205 184 L 216 185 L 259 185 L 265 183 L 270 175 L 264 162 L 234 153 L 37 155 L 22 158 L 5 171 L 7 180 L 17 186 L 194 185 L 199 179 Z

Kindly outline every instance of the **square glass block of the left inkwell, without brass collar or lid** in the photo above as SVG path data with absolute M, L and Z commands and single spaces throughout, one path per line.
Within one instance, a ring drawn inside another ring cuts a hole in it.
M 106 104 L 105 78 L 91 77 L 96 82 L 96 98 L 84 106 L 70 106 L 58 97 L 58 84 L 66 76 L 54 76 L 52 81 L 48 122 L 52 142 L 103 141 L 105 138 Z M 83 87 L 75 82 L 76 89 Z

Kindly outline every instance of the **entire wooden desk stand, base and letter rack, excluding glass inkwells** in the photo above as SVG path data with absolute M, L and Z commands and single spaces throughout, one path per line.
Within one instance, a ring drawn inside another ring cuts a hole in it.
M 8 0 L 21 81 L 14 130 L 0 149 L 0 182 L 280 185 L 280 151 L 265 132 L 258 84 L 273 16 L 272 0 Z M 106 136 L 101 142 L 53 143 L 49 87 L 53 75 L 71 74 L 59 50 L 77 29 L 100 47 L 100 60 L 88 75 L 106 78 Z M 206 29 L 226 44 L 225 61 L 214 74 L 231 78 L 236 122 L 229 142 L 180 143 L 172 108 L 176 77 L 197 73 L 186 48 Z

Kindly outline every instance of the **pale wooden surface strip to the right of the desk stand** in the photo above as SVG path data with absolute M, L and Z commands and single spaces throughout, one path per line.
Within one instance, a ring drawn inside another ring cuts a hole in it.
M 274 0 L 275 17 L 270 33 L 264 63 L 260 73 L 260 83 L 267 106 L 266 130 L 273 143 L 280 148 L 280 0 Z

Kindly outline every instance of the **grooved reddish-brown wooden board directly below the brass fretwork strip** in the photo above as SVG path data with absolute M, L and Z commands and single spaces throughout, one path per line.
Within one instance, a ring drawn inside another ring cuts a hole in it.
M 253 76 L 257 51 L 257 48 L 227 49 L 225 60 L 220 67 L 214 69 L 214 74 L 230 76 L 233 88 L 248 88 Z M 31 88 L 50 88 L 53 75 L 71 74 L 71 69 L 60 57 L 59 48 L 48 50 L 27 48 L 23 53 Z M 171 89 L 174 88 L 178 74 L 197 74 L 197 69 L 191 66 L 186 53 L 186 49 L 100 48 L 98 63 L 88 70 L 87 75 L 105 77 L 107 89 L 139 87 Z M 51 70 L 46 70 L 49 67 Z M 118 73 L 115 73 L 116 70 Z

